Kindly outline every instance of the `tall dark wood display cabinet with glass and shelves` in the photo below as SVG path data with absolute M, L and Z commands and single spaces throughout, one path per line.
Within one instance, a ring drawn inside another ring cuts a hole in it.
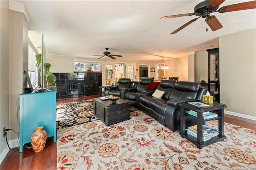
M 208 91 L 213 101 L 220 103 L 220 56 L 219 48 L 208 49 Z

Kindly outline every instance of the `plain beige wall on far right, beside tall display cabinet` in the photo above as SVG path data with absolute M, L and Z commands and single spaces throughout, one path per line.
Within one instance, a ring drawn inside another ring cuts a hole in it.
M 220 101 L 256 116 L 256 28 L 220 37 Z

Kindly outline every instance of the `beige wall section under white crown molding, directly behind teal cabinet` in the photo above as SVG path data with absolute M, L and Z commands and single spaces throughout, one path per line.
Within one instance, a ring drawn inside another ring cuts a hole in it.
M 24 70 L 28 70 L 28 21 L 21 12 L 10 10 L 10 61 L 9 61 L 9 128 L 18 131 L 17 102 L 25 85 Z M 19 112 L 18 112 L 19 113 Z M 8 132 L 9 140 L 17 134 Z

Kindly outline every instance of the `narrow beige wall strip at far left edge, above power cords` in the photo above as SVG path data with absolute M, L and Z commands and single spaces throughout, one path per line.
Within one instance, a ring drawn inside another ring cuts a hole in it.
M 0 161 L 8 150 L 3 128 L 9 128 L 9 2 L 0 1 Z

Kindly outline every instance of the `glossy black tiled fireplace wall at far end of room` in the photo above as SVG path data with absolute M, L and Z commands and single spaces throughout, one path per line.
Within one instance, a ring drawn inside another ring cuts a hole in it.
M 56 99 L 97 95 L 102 85 L 102 73 L 98 71 L 53 74 L 57 77 Z

